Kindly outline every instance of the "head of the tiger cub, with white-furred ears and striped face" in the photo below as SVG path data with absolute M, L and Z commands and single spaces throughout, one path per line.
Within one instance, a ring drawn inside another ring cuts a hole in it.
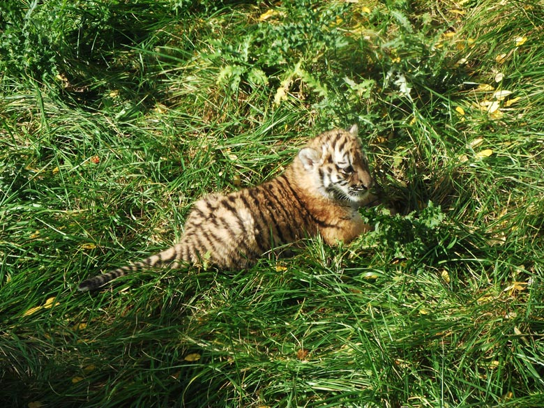
M 315 137 L 299 151 L 299 159 L 317 190 L 330 199 L 357 204 L 365 199 L 374 183 L 357 125 Z

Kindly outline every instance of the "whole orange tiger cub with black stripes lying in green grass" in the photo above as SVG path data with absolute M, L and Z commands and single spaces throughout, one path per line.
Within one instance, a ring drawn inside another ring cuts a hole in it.
M 286 243 L 320 234 L 328 245 L 352 241 L 370 229 L 357 209 L 370 198 L 373 181 L 358 128 L 329 130 L 312 139 L 285 172 L 259 186 L 200 199 L 189 213 L 179 243 L 163 252 L 84 280 L 97 289 L 130 271 L 176 268 L 206 260 L 243 269 Z

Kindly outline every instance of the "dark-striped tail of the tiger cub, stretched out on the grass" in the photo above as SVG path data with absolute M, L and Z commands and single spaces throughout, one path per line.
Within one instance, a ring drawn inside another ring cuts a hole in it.
M 111 282 L 116 278 L 121 276 L 128 275 L 130 272 L 142 271 L 142 269 L 147 269 L 153 266 L 166 266 L 168 265 L 171 268 L 176 268 L 179 266 L 179 263 L 188 262 L 189 259 L 182 259 L 181 254 L 183 253 L 183 243 L 178 243 L 172 248 L 168 248 L 163 252 L 159 252 L 156 255 L 151 255 L 142 261 L 135 262 L 132 265 L 122 266 L 119 269 L 114 269 L 104 273 L 103 275 L 94 276 L 80 283 L 80 286 L 77 287 L 77 290 L 80 292 L 87 292 L 89 290 L 96 290 L 99 287 L 104 286 L 107 282 Z

